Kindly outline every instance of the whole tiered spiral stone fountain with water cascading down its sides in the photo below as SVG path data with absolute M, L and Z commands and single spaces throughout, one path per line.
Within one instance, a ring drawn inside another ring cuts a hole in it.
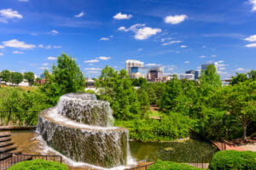
M 109 103 L 94 94 L 65 94 L 41 111 L 38 133 L 49 146 L 74 161 L 100 167 L 126 165 L 128 130 L 113 127 Z

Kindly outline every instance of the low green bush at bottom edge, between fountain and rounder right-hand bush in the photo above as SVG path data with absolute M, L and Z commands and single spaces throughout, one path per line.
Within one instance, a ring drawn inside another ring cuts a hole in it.
M 148 170 L 199 170 L 200 168 L 191 167 L 187 164 L 173 161 L 156 161 L 148 167 Z

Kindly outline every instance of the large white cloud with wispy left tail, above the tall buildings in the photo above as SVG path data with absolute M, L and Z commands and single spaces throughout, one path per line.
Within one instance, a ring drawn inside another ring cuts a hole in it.
M 125 28 L 125 26 L 121 26 L 119 27 L 118 30 L 125 31 L 125 32 L 133 31 L 135 33 L 134 37 L 137 40 L 148 39 L 148 37 L 152 37 L 153 35 L 162 31 L 160 28 L 151 28 L 151 27 L 145 26 L 144 24 L 136 24 L 136 25 L 130 26 L 130 28 Z

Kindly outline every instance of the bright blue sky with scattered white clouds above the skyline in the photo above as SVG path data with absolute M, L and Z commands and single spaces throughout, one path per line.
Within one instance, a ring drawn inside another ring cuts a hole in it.
M 126 59 L 230 77 L 256 69 L 256 0 L 0 0 L 0 70 L 40 75 L 62 52 L 85 77 Z

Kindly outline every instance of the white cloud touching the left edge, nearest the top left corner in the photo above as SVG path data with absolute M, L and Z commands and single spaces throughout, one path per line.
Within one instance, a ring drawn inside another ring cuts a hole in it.
M 22 19 L 23 16 L 11 8 L 4 8 L 0 10 L 0 22 L 8 23 L 11 19 Z

